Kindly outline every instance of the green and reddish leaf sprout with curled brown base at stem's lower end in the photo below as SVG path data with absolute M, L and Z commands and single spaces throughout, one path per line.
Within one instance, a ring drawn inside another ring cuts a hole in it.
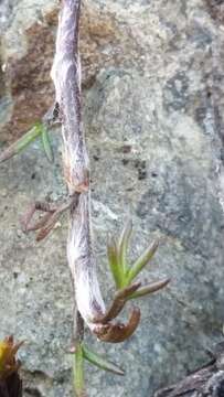
M 127 301 L 158 291 L 169 282 L 169 280 L 166 279 L 152 282 L 145 287 L 141 287 L 141 282 L 132 283 L 132 280 L 152 258 L 159 242 L 157 240 L 148 247 L 134 265 L 129 267 L 127 251 L 131 230 L 131 223 L 128 223 L 124 228 L 120 238 L 110 238 L 109 244 L 107 245 L 110 271 L 117 287 L 117 292 L 115 293 L 115 298 L 109 305 L 109 309 L 104 314 L 93 319 L 93 323 L 96 324 L 94 333 L 104 342 L 119 343 L 131 336 L 140 321 L 140 310 L 138 308 L 132 309 L 129 321 L 126 324 L 119 322 L 113 323 L 111 321 L 118 316 Z

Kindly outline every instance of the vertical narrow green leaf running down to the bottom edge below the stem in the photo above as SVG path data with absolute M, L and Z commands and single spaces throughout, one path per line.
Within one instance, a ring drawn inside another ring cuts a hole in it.
M 77 397 L 85 396 L 84 387 L 84 356 L 82 344 L 75 346 L 74 354 L 74 387 Z

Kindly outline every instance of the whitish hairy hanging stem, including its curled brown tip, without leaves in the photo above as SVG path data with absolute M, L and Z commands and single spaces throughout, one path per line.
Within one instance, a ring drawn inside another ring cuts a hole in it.
M 81 116 L 79 11 L 81 0 L 62 1 L 52 67 L 62 121 L 64 175 L 70 195 L 79 194 L 77 205 L 72 205 L 70 210 L 67 258 L 82 318 L 99 339 L 120 342 L 125 335 L 135 331 L 140 314 L 135 309 L 127 325 L 110 323 L 110 315 L 106 324 L 105 321 L 96 321 L 98 318 L 105 319 L 106 309 L 96 276 L 90 240 L 89 167 Z

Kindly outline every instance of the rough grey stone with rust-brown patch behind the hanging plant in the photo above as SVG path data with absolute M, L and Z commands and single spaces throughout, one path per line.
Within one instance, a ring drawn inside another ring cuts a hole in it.
M 55 0 L 0 2 L 1 149 L 54 100 L 50 69 Z M 139 330 L 120 345 L 89 343 L 121 363 L 114 377 L 87 368 L 88 395 L 148 397 L 206 360 L 224 321 L 224 2 L 85 0 L 81 52 L 92 162 L 98 275 L 113 294 L 108 232 L 134 219 L 130 256 L 164 237 L 150 280 L 166 291 L 140 301 Z M 20 229 L 34 198 L 63 200 L 60 132 L 54 164 L 41 142 L 0 165 L 0 337 L 24 339 L 25 397 L 71 397 L 72 299 L 66 217 L 36 245 Z M 87 365 L 88 366 L 88 365 Z

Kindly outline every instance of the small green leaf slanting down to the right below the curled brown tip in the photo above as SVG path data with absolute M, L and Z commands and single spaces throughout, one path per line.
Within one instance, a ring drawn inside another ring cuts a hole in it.
M 89 348 L 87 348 L 85 345 L 83 345 L 83 356 L 89 363 L 96 365 L 100 369 L 111 372 L 116 375 L 125 375 L 124 369 L 121 369 L 116 364 L 107 361 L 105 357 L 100 356 L 99 354 L 89 351 Z

